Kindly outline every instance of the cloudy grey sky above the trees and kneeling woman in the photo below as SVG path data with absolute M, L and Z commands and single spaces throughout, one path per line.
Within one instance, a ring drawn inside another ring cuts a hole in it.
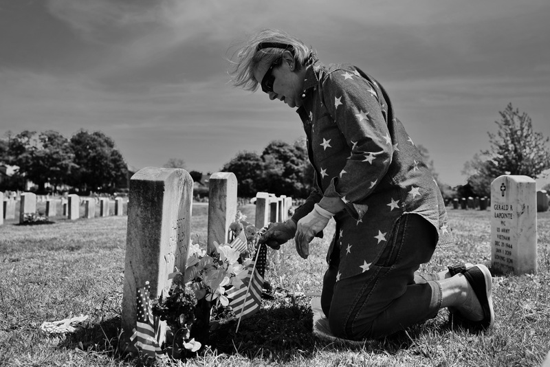
M 0 135 L 103 131 L 136 168 L 204 173 L 294 142 L 292 109 L 228 84 L 232 46 L 273 27 L 377 78 L 457 185 L 509 102 L 550 136 L 549 15 L 548 0 L 0 0 Z

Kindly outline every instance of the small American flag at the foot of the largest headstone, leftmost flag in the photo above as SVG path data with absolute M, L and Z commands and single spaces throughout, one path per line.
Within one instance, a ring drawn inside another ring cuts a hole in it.
M 130 340 L 138 349 L 142 350 L 144 355 L 156 358 L 162 354 L 162 350 L 155 339 L 150 291 L 149 282 L 145 283 L 145 287 L 137 288 L 137 322 Z

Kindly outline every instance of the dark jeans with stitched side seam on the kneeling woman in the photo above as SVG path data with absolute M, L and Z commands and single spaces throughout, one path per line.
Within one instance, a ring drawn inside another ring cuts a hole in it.
M 335 248 L 323 278 L 322 311 L 334 335 L 349 340 L 376 338 L 434 318 L 441 306 L 437 275 L 415 271 L 435 249 L 435 228 L 417 214 L 397 221 L 382 256 L 368 271 L 336 282 L 340 250 Z

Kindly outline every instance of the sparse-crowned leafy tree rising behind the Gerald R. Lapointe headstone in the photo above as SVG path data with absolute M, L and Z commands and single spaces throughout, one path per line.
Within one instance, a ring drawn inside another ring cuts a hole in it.
M 490 148 L 465 164 L 468 182 L 477 195 L 489 195 L 490 183 L 500 175 L 536 177 L 550 168 L 549 138 L 533 132 L 531 118 L 509 103 L 499 111 L 498 133 L 489 133 Z

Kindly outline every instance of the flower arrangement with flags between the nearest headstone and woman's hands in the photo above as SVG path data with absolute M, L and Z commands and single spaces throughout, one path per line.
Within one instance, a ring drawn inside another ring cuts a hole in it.
M 190 243 L 186 269 L 176 268 L 169 276 L 168 294 L 153 300 L 153 316 L 167 325 L 163 353 L 179 359 L 191 357 L 208 343 L 212 317 L 235 315 L 240 322 L 259 309 L 265 265 L 259 265 L 258 257 L 263 252 L 265 264 L 266 246 L 255 248 L 263 232 L 241 212 L 236 213 L 230 232 L 230 243 L 214 242 L 210 253 L 205 245 Z M 252 276 L 251 281 L 251 274 L 260 267 L 261 277 Z

